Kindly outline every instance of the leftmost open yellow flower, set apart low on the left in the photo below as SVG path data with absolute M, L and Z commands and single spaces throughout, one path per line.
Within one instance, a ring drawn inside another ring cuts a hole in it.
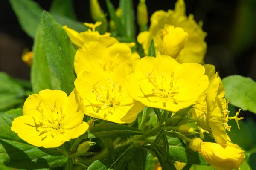
M 23 116 L 14 119 L 11 130 L 37 147 L 59 147 L 88 129 L 84 114 L 77 109 L 74 92 L 67 97 L 60 90 L 43 90 L 29 95 Z

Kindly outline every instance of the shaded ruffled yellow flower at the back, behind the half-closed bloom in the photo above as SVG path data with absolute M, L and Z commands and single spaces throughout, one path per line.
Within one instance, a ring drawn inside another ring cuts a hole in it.
M 176 60 L 179 63 L 202 63 L 206 53 L 207 44 L 204 42 L 206 33 L 202 30 L 202 22 L 199 25 L 195 22 L 192 14 L 189 17 L 185 14 L 185 3 L 183 0 L 178 0 L 175 4 L 175 10 L 156 11 L 151 16 L 151 25 L 149 31 L 141 32 L 137 41 L 142 44 L 145 54 L 148 52 L 148 46 L 151 39 L 154 39 L 154 44 L 157 49 L 162 45 L 161 31 L 164 26 L 171 25 L 180 27 L 188 33 L 188 38 L 184 43 L 184 48 L 180 51 Z M 165 54 L 165 53 L 161 53 Z

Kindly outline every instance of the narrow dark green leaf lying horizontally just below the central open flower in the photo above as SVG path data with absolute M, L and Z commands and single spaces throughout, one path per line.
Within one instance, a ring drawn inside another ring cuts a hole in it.
M 131 135 L 143 135 L 142 131 L 122 124 L 96 124 L 81 138 L 125 138 Z

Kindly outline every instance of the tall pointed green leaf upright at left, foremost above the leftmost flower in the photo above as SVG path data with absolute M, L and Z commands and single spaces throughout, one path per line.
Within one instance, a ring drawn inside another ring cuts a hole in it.
M 61 89 L 69 95 L 74 89 L 74 56 L 70 39 L 48 12 L 42 14 L 44 49 L 47 62 L 60 82 Z

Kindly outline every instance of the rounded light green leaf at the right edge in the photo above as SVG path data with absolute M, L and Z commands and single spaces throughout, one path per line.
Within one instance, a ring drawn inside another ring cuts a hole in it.
M 251 78 L 231 75 L 222 80 L 225 86 L 225 98 L 230 104 L 256 114 L 256 82 Z

